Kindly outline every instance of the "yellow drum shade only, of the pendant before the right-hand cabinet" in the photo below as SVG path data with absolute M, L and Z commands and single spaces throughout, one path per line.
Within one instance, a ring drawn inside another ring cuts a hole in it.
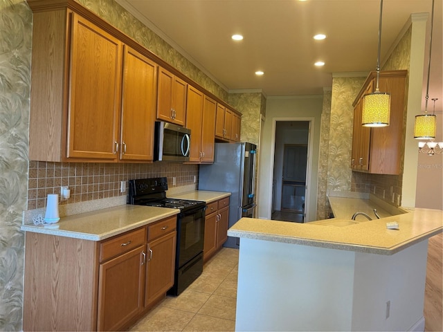
M 390 94 L 375 91 L 363 96 L 361 125 L 364 127 L 386 127 L 390 117 Z

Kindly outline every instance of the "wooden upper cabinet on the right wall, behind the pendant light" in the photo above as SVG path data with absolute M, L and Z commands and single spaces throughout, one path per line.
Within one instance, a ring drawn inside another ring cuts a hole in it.
M 379 90 L 390 93 L 390 124 L 388 127 L 361 126 L 361 99 L 374 90 L 376 73 L 372 72 L 354 101 L 354 135 L 352 169 L 371 174 L 400 174 L 404 137 L 404 105 L 407 71 L 382 71 Z M 360 117 L 360 118 L 357 118 Z M 359 127 L 359 128 L 356 128 Z M 352 164 L 352 161 L 351 161 Z

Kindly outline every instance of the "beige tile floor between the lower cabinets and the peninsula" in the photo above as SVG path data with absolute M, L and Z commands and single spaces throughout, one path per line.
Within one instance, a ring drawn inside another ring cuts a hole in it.
M 238 250 L 221 248 L 177 297 L 167 296 L 129 331 L 235 331 Z

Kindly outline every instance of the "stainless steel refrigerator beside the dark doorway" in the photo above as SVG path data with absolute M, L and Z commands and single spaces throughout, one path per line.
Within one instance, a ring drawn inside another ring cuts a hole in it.
M 231 193 L 229 227 L 242 216 L 253 216 L 256 149 L 248 142 L 215 143 L 214 163 L 200 165 L 199 190 Z M 238 248 L 239 239 L 228 237 L 224 246 Z

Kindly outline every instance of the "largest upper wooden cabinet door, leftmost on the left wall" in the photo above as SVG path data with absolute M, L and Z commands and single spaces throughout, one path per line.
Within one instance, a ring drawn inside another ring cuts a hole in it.
M 66 157 L 116 160 L 122 44 L 73 13 Z

